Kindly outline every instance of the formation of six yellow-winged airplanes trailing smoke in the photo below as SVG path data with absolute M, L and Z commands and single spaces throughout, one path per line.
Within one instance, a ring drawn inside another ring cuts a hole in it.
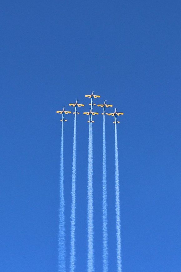
M 88 97 L 88 98 L 91 99 L 91 102 L 90 102 L 90 104 L 89 104 L 91 107 L 90 107 L 90 111 L 88 111 L 88 112 L 83 112 L 83 114 L 89 115 L 89 116 L 90 116 L 90 119 L 89 119 L 88 123 L 89 123 L 89 122 L 94 123 L 94 121 L 93 121 L 93 115 L 98 115 L 99 113 L 98 113 L 98 112 L 93 112 L 93 106 L 96 106 L 96 104 L 93 103 L 93 99 L 100 98 L 100 95 L 94 95 L 94 91 L 92 91 L 92 93 L 91 93 L 90 95 L 85 95 L 85 97 Z M 115 119 L 114 119 L 115 121 L 114 121 L 113 123 L 115 123 L 115 122 L 116 122 L 116 123 L 120 123 L 120 121 L 117 121 L 117 116 L 123 115 L 124 113 L 123 113 L 123 112 L 117 112 L 117 111 L 116 111 L 116 110 L 117 110 L 116 108 L 114 109 L 114 112 L 113 112 L 113 113 L 107 113 L 107 112 L 106 112 L 106 108 L 112 107 L 113 105 L 108 105 L 108 104 L 106 104 L 106 101 L 107 101 L 107 100 L 104 100 L 104 103 L 103 103 L 103 104 L 98 104 L 98 105 L 97 105 L 98 107 L 103 108 L 103 113 L 102 113 L 102 114 L 108 115 L 108 116 L 114 116 L 114 117 L 115 117 Z M 75 111 L 73 112 L 73 114 L 80 114 L 80 113 L 77 111 L 77 108 L 78 108 L 78 107 L 84 107 L 83 104 L 79 104 L 79 103 L 78 103 L 78 99 L 76 100 L 75 103 L 70 103 L 69 106 L 75 107 Z M 63 107 L 63 110 L 62 110 L 62 111 L 57 111 L 57 113 L 62 114 L 62 119 L 61 119 L 60 121 L 65 122 L 65 121 L 67 121 L 67 120 L 65 119 L 65 114 L 71 113 L 71 111 L 65 111 L 65 107 Z

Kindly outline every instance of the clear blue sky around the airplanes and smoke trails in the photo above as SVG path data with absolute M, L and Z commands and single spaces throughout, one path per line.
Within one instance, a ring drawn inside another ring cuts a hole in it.
M 181 267 L 180 1 L 1 1 L 0 271 L 58 271 L 60 116 L 79 99 L 76 271 L 87 262 L 89 94 L 123 111 L 123 272 Z M 96 103 L 97 103 L 96 101 Z M 73 110 L 73 108 L 71 109 Z M 100 108 L 96 108 L 101 112 Z M 111 111 L 109 111 L 111 112 Z M 64 126 L 67 267 L 73 114 Z M 102 271 L 102 115 L 93 124 L 94 253 Z M 114 126 L 106 116 L 109 268 L 116 271 Z

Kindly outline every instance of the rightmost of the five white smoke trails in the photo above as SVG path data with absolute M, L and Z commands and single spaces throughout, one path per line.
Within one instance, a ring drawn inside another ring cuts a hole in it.
M 118 272 L 122 272 L 121 264 L 121 220 L 120 220 L 120 203 L 119 203 L 119 166 L 118 166 L 118 136 L 117 123 L 115 121 L 115 189 L 116 189 L 116 235 L 117 235 L 117 267 Z

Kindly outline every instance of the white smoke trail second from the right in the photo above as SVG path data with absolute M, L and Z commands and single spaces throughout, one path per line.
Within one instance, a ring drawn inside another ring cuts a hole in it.
M 103 114 L 103 272 L 108 272 L 107 172 L 106 172 L 106 135 L 104 114 Z

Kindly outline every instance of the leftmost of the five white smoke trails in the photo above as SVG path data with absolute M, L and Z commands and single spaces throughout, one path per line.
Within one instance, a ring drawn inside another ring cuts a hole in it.
M 63 118 L 62 118 L 63 119 Z M 63 186 L 63 121 L 60 149 L 60 208 L 59 208 L 59 236 L 58 236 L 58 271 L 65 272 L 65 218 L 64 218 L 64 186 Z

